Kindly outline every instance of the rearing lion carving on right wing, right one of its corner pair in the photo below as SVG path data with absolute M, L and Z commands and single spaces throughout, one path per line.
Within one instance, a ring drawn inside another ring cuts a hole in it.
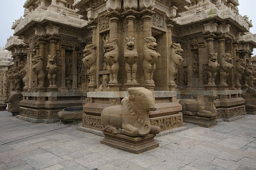
M 232 64 L 232 58 L 229 53 L 225 53 L 221 58 L 221 67 L 220 67 L 220 84 L 224 86 L 228 86 L 226 83 L 228 72 L 234 67 Z

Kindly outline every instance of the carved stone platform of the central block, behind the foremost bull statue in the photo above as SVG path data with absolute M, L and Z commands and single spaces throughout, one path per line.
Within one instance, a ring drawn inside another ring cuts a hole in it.
M 152 91 L 156 111 L 150 111 L 150 122 L 159 126 L 161 131 L 183 126 L 181 105 L 177 102 L 176 91 Z M 87 92 L 90 101 L 83 105 L 82 126 L 101 131 L 101 111 L 106 107 L 120 105 L 121 100 L 129 96 L 127 91 Z

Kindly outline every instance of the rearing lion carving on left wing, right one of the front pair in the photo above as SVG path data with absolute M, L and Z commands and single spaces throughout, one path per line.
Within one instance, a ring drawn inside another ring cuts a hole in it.
M 56 56 L 48 55 L 48 65 L 46 66 L 48 71 L 48 79 L 49 79 L 49 87 L 57 87 L 56 79 L 57 79 L 57 65 L 56 65 Z

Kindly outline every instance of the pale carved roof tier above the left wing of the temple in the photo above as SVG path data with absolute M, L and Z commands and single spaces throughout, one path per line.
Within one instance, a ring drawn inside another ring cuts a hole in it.
M 28 0 L 24 4 L 24 18 L 19 18 L 13 23 L 13 35 L 22 36 L 31 26 L 47 21 L 73 28 L 86 26 L 87 21 L 80 19 L 75 13 L 73 3 L 73 0 Z

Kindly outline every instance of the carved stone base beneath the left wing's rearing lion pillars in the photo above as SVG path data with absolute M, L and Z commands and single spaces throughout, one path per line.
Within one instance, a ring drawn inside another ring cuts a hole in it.
M 34 123 L 59 121 L 59 111 L 71 106 L 82 106 L 83 98 L 83 93 L 78 91 L 24 92 L 22 95 L 23 100 L 19 103 L 20 118 Z

